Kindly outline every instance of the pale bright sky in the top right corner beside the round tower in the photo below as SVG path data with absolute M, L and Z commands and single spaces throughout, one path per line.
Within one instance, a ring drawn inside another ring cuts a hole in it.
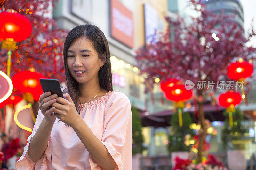
M 251 27 L 252 18 L 254 18 L 254 30 L 256 31 L 256 0 L 240 0 L 244 10 L 244 30 L 245 32 Z M 253 38 L 248 45 L 256 47 L 256 38 Z

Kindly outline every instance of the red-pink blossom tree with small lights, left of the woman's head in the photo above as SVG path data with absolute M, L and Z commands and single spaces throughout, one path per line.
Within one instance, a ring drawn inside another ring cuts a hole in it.
M 58 28 L 50 18 L 54 0 L 0 0 L 0 12 L 13 9 L 26 16 L 32 24 L 28 39 L 17 43 L 11 56 L 11 75 L 30 68 L 47 78 L 65 82 L 63 45 L 67 31 Z M 48 14 L 48 15 L 47 15 Z M 0 49 L 0 70 L 7 71 L 7 51 Z

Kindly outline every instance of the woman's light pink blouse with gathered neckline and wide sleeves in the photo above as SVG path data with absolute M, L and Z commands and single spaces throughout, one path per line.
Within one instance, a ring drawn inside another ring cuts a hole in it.
M 67 88 L 66 86 L 63 88 Z M 62 90 L 63 90 L 62 89 Z M 119 91 L 112 91 L 97 100 L 78 105 L 80 116 L 98 137 L 115 160 L 119 170 L 132 169 L 132 113 L 128 97 Z M 15 163 L 20 169 L 103 169 L 89 154 L 76 132 L 64 126 L 57 118 L 53 124 L 44 155 L 37 162 L 28 156 L 30 139 L 35 135 L 44 115 L 39 109 L 32 134 L 20 159 Z

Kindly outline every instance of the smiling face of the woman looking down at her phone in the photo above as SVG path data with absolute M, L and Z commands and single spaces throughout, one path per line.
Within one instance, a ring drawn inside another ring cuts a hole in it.
M 98 71 L 103 64 L 93 43 L 84 36 L 75 39 L 68 48 L 68 70 L 78 83 L 98 80 Z

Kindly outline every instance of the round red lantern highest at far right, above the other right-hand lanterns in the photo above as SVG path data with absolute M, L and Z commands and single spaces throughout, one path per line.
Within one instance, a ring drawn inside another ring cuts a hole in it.
M 253 73 L 253 66 L 247 61 L 231 63 L 227 68 L 228 77 L 232 80 L 250 77 Z

